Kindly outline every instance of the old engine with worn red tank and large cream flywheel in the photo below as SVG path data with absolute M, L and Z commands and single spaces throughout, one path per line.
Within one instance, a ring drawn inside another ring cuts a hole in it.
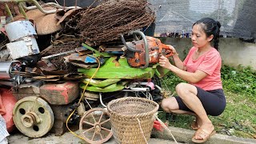
M 19 130 L 31 138 L 38 138 L 49 130 L 56 135 L 62 135 L 65 132 L 66 119 L 70 115 L 70 111 L 73 111 L 77 106 L 74 101 L 78 98 L 79 90 L 78 82 L 54 84 L 39 81 L 22 84 L 17 90 L 12 89 L 12 93 L 19 103 L 14 108 L 15 114 L 18 114 L 15 115 L 14 121 L 18 123 Z M 40 107 L 40 105 L 42 106 Z M 51 116 L 51 114 L 46 113 L 50 110 L 53 111 L 54 121 L 53 119 L 46 119 Z M 69 123 L 76 122 L 80 117 L 78 114 L 82 115 L 84 111 L 80 110 L 79 112 L 77 110 L 70 118 Z M 35 121 L 38 117 L 41 121 Z M 25 120 L 27 121 L 24 122 Z M 27 126 L 28 123 L 30 126 Z M 49 125 L 52 123 L 54 124 L 51 128 Z

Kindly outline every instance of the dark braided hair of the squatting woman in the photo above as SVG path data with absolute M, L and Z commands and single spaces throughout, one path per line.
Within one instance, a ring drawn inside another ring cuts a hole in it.
M 202 18 L 199 19 L 195 24 L 199 24 L 202 26 L 202 30 L 206 33 L 206 37 L 210 37 L 211 34 L 214 35 L 214 48 L 218 50 L 218 42 L 219 42 L 219 32 L 221 28 L 221 24 L 218 21 L 215 21 L 213 18 Z

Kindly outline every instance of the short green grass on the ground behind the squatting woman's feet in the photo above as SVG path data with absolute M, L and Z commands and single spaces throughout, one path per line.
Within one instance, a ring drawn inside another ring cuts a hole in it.
M 244 94 L 225 91 L 226 110 L 218 117 L 210 116 L 218 134 L 254 138 L 256 134 L 255 105 Z

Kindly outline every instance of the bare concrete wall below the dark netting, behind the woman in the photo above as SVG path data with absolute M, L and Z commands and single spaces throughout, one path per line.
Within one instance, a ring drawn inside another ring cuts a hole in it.
M 160 38 L 162 43 L 175 47 L 180 58 L 185 58 L 192 46 L 190 38 Z M 256 44 L 242 42 L 239 38 L 221 38 L 219 52 L 222 63 L 228 66 L 251 66 L 256 70 Z

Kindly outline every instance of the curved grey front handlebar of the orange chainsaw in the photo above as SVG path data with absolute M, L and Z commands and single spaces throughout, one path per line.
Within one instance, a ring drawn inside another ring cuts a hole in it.
M 148 66 L 149 66 L 149 63 L 150 63 L 150 56 L 149 56 L 149 45 L 147 43 L 147 40 L 146 40 L 146 36 L 144 33 L 142 33 L 142 31 L 133 31 L 132 34 L 134 35 L 134 38 L 136 40 L 138 40 L 138 37 L 136 36 L 136 34 L 139 34 L 142 36 L 142 40 L 145 44 L 145 65 L 142 66 L 141 68 L 142 69 L 146 69 Z

